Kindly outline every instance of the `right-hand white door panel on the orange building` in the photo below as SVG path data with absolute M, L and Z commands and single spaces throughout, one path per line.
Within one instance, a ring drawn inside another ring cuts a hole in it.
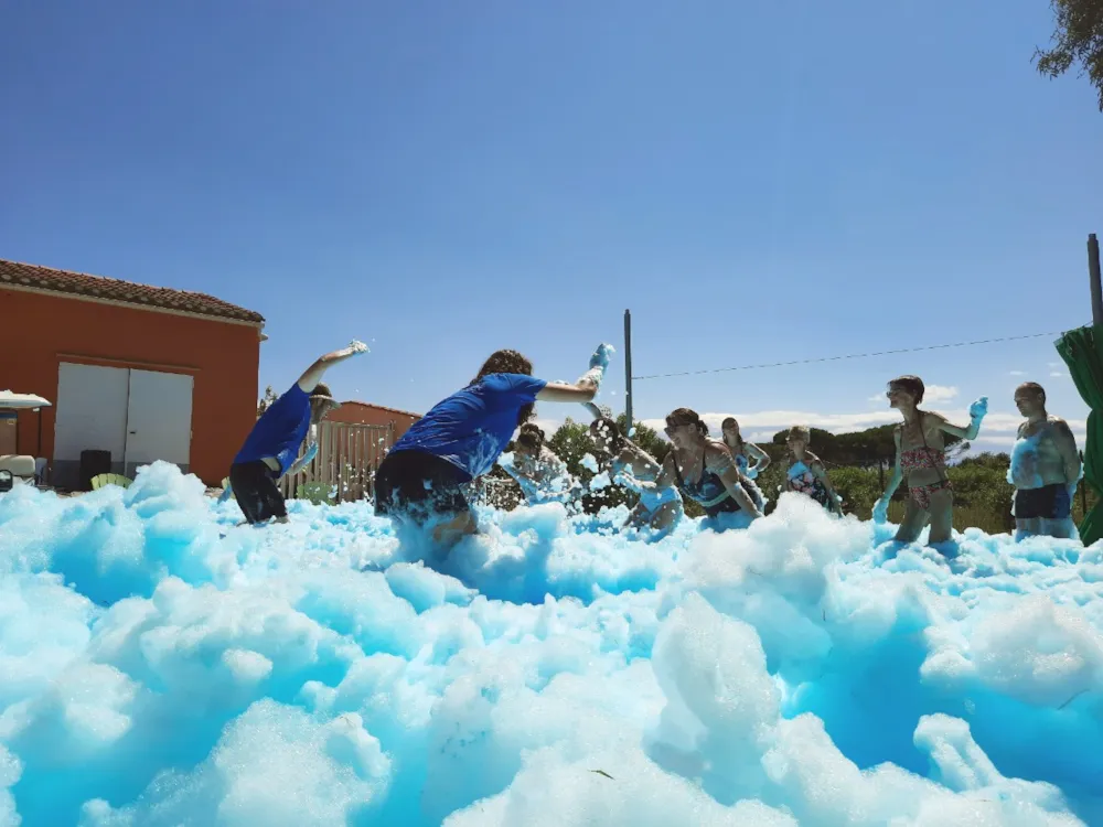
M 164 460 L 188 471 L 192 448 L 192 384 L 186 374 L 130 370 L 126 474 Z

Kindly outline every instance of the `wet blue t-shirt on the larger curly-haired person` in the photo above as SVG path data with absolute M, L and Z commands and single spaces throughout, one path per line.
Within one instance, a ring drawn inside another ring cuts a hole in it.
M 424 451 L 473 480 L 490 471 L 517 428 L 517 415 L 547 385 L 523 374 L 490 374 L 458 390 L 416 421 L 395 451 Z

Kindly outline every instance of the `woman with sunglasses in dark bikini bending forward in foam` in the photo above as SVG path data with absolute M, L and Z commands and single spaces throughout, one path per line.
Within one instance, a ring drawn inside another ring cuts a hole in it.
M 747 479 L 731 452 L 719 442 L 708 439 L 708 426 L 696 411 L 678 408 L 666 417 L 666 436 L 674 449 L 666 454 L 662 471 L 647 487 L 677 485 L 683 496 L 696 500 L 709 518 L 720 514 L 743 512 L 751 519 L 762 516 L 762 511 L 743 487 Z

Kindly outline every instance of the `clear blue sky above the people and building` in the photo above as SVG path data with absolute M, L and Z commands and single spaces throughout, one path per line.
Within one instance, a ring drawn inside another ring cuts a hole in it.
M 425 410 L 502 346 L 574 379 L 625 308 L 638 375 L 1090 321 L 1103 116 L 1035 71 L 1045 0 L 23 0 L 0 29 L 0 257 L 257 310 L 261 387 L 353 337 L 344 398 Z M 1085 417 L 1058 361 L 653 379 L 635 410 L 846 430 L 907 372 L 992 397 L 996 445 L 1022 378 Z

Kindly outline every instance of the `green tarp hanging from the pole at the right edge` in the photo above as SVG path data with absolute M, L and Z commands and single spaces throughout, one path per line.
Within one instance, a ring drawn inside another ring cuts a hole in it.
M 1096 494 L 1103 493 L 1103 325 L 1078 327 L 1054 343 L 1080 397 L 1091 408 L 1084 445 L 1084 480 Z M 1103 537 L 1103 497 L 1084 515 L 1080 538 L 1085 546 Z

